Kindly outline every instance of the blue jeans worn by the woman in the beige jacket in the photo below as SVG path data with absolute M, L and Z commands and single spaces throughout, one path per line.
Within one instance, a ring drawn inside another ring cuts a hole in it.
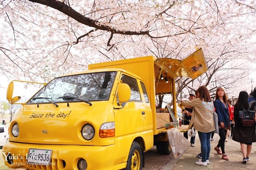
M 201 142 L 201 154 L 202 154 L 202 162 L 206 162 L 206 160 L 210 157 L 210 137 L 212 132 L 204 133 L 198 131 L 198 136 Z

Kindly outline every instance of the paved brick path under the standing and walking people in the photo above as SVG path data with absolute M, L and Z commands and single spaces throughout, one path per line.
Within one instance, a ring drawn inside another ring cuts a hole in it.
M 198 161 L 196 155 L 200 153 L 200 140 L 198 134 L 196 136 L 196 147 L 189 147 L 178 161 L 170 161 L 164 168 L 164 170 L 198 170 L 198 169 L 235 169 L 235 170 L 256 170 L 256 143 L 253 143 L 251 151 L 250 161 L 247 164 L 242 164 L 242 152 L 240 149 L 240 143 L 233 141 L 232 138 L 228 138 L 228 142 L 225 144 L 225 151 L 229 156 L 229 161 L 221 159 L 221 155 L 217 155 L 214 147 L 218 144 L 219 135 L 214 135 L 214 141 L 211 141 L 210 163 L 207 167 L 196 165 Z M 175 159 L 175 158 L 172 158 Z M 175 165 L 174 165 L 175 163 Z M 173 168 L 174 167 L 174 168 Z

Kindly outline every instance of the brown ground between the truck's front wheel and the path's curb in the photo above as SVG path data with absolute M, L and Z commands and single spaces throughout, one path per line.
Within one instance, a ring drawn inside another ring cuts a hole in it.
M 145 152 L 145 167 L 143 170 L 162 170 L 171 160 L 172 155 L 157 154 L 156 147 Z

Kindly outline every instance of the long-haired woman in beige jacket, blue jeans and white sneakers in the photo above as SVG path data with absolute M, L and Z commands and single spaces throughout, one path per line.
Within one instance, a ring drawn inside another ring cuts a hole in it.
M 210 93 L 205 86 L 198 88 L 199 98 L 191 101 L 182 101 L 182 106 L 193 107 L 192 119 L 189 128 L 192 126 L 198 131 L 201 142 L 202 159 L 195 162 L 197 165 L 207 166 L 210 156 L 210 137 L 212 131 L 215 131 L 213 122 L 213 102 Z

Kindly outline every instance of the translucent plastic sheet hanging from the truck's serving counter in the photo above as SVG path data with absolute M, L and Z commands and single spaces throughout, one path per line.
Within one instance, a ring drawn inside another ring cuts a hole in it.
M 171 128 L 167 131 L 169 143 L 172 148 L 172 153 L 175 158 L 183 153 L 187 147 L 190 146 L 189 140 L 187 140 L 183 134 L 177 128 Z

